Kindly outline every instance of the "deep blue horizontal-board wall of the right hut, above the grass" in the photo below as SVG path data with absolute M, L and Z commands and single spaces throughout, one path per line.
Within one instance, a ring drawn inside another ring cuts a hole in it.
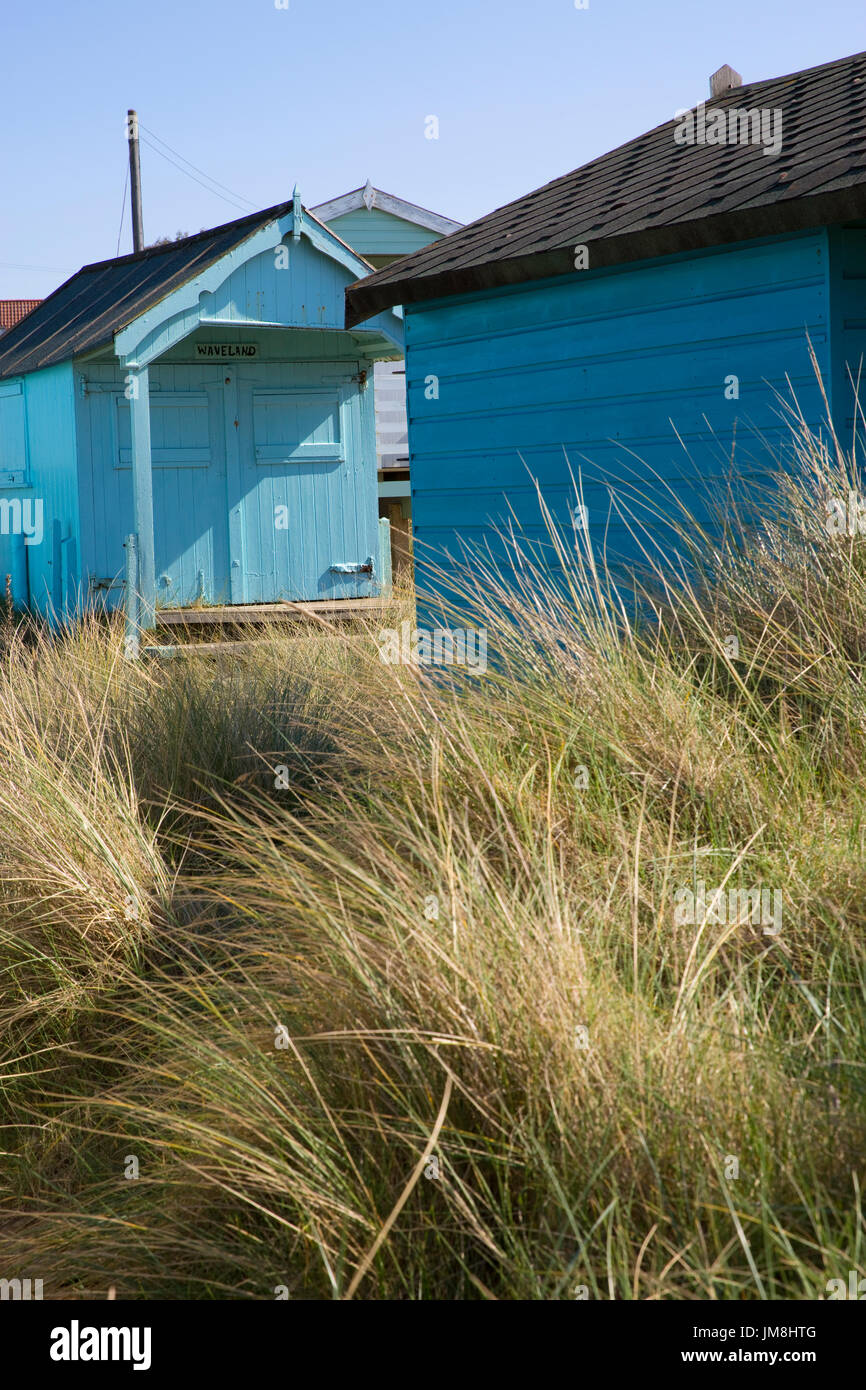
M 827 250 L 820 229 L 407 306 L 417 556 L 499 550 L 495 527 L 541 538 L 535 481 L 567 523 L 570 470 L 614 563 L 638 560 L 617 514 L 635 488 L 705 518 L 731 459 L 763 473 L 767 445 L 787 452 L 776 392 L 820 421 L 806 335 L 827 375 Z

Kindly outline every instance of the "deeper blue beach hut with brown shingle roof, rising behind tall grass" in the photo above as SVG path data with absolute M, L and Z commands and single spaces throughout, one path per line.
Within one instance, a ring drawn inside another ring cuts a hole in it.
M 596 553 L 634 573 L 635 492 L 701 518 L 731 460 L 784 463 L 780 398 L 820 428 L 809 343 L 851 446 L 866 54 L 748 86 L 721 68 L 709 101 L 352 285 L 346 325 L 398 303 L 416 562 L 502 553 L 502 528 L 544 543 L 535 484 L 570 528 L 573 471 Z

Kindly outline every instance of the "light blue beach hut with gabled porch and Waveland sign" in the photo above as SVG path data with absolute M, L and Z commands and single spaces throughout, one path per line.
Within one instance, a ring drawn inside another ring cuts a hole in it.
M 124 596 L 136 538 L 157 606 L 381 591 L 371 265 L 292 200 L 85 265 L 0 341 L 0 573 L 74 617 Z

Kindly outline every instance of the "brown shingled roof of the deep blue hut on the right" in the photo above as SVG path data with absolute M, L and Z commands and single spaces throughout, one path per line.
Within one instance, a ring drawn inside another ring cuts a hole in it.
M 392 304 L 866 217 L 866 53 L 751 82 L 706 110 L 780 110 L 760 145 L 677 145 L 678 121 L 393 261 L 346 291 L 346 327 Z

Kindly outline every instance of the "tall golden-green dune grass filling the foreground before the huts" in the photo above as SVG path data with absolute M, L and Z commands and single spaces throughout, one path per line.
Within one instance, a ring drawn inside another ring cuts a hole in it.
M 799 448 L 759 531 L 680 521 L 692 564 L 639 623 L 552 521 L 556 582 L 477 559 L 480 674 L 385 666 L 375 630 L 165 666 L 99 624 L 7 634 L 7 1276 L 812 1300 L 866 1273 L 866 552 L 816 523 L 851 461 Z M 678 919 L 699 883 L 781 891 L 781 931 Z

